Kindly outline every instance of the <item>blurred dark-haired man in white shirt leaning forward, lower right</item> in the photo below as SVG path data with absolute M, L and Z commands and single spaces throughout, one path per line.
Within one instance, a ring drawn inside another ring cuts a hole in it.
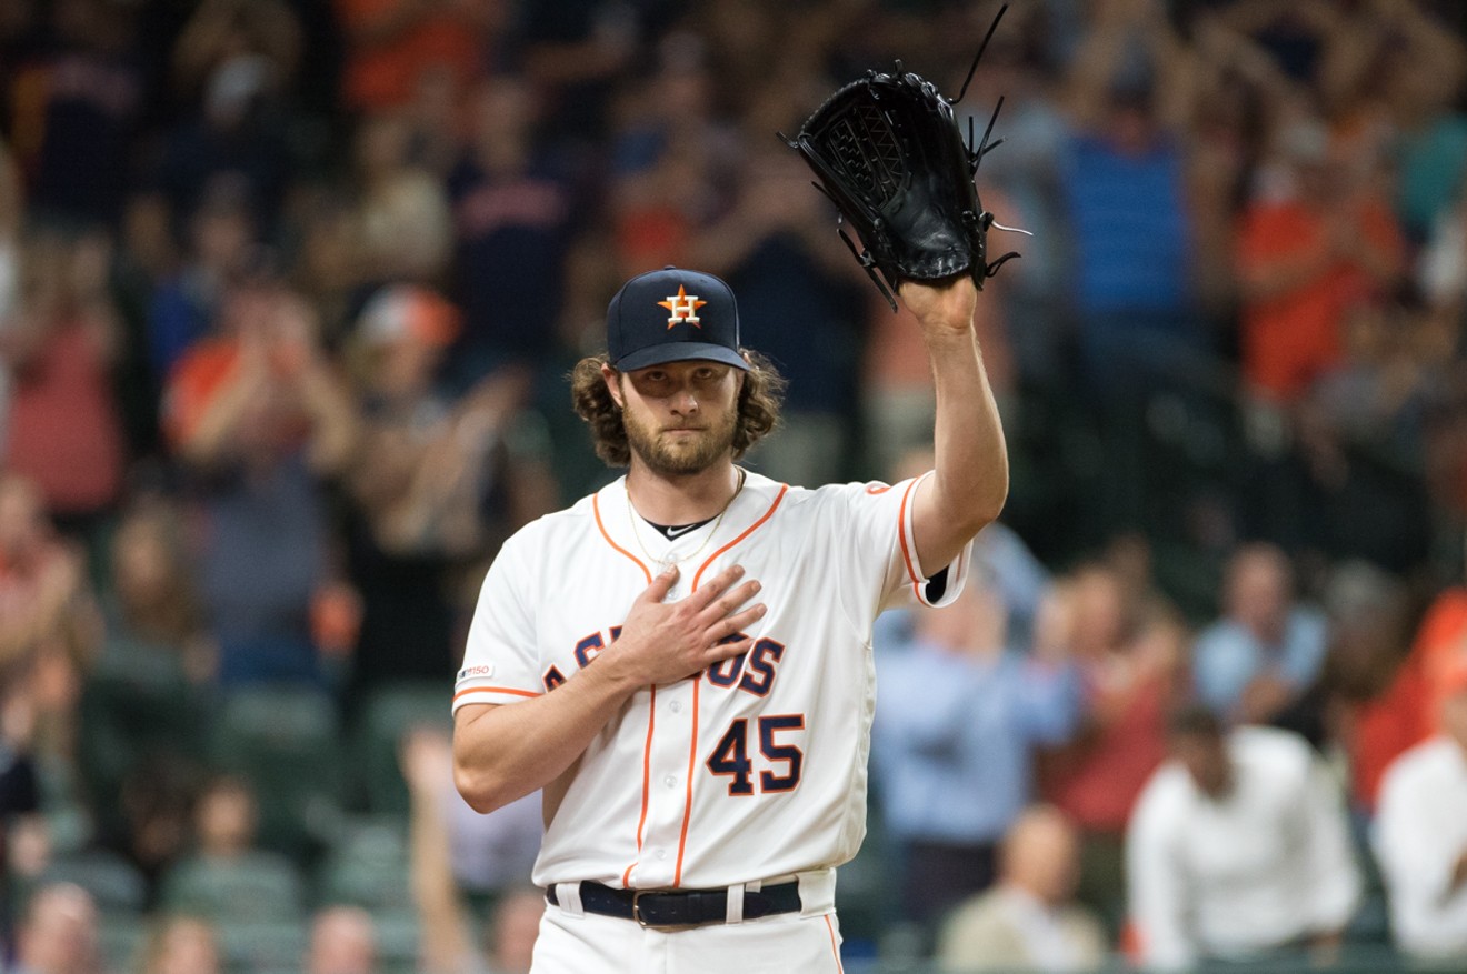
M 1304 739 L 1223 733 L 1210 710 L 1188 706 L 1168 748 L 1127 835 L 1141 961 L 1177 970 L 1336 943 L 1361 880 L 1339 789 Z

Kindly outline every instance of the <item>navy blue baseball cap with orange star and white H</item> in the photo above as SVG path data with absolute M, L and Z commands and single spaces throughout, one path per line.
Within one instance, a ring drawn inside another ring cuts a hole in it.
M 713 274 L 663 267 L 632 277 L 606 308 L 606 351 L 623 373 L 704 359 L 748 371 L 738 351 L 738 302 Z

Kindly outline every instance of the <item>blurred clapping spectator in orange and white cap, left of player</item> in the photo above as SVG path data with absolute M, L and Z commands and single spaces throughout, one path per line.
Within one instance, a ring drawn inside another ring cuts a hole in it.
M 506 516 L 503 437 L 528 376 L 506 368 L 462 396 L 445 390 L 439 367 L 459 321 L 452 304 L 411 285 L 377 290 L 356 321 L 362 446 L 346 472 L 362 596 L 356 689 L 452 672 L 449 572 L 480 556 Z

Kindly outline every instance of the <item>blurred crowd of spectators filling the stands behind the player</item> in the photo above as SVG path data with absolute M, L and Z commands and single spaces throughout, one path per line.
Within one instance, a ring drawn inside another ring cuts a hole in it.
M 615 475 L 565 374 L 698 267 L 791 380 L 753 466 L 921 469 L 915 324 L 776 133 L 955 94 L 998 6 L 0 4 L 21 970 L 519 970 L 538 814 L 442 735 L 500 540 Z M 1449 1 L 1008 10 L 958 114 L 1034 235 L 977 323 L 1014 484 L 879 625 L 852 959 L 1467 958 L 1464 72 Z

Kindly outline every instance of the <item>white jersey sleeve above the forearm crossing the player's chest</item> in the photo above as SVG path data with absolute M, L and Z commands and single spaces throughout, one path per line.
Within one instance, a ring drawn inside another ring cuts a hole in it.
M 513 537 L 484 576 L 453 684 L 453 710 L 464 704 L 512 704 L 544 692 L 531 615 L 530 582 Z

